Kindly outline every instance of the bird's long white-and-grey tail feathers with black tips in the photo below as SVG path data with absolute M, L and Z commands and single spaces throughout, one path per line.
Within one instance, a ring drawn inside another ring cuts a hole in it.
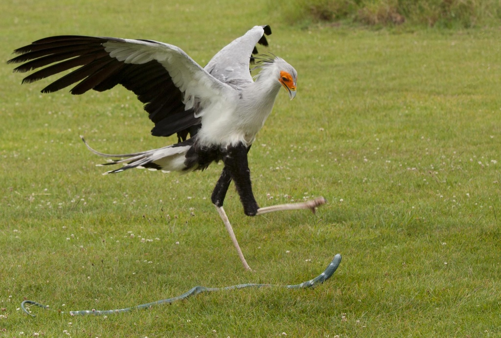
M 121 160 L 112 160 L 112 162 L 103 163 L 99 166 L 126 163 L 123 167 L 115 170 L 110 170 L 106 174 L 114 174 L 131 168 L 149 168 L 151 170 L 163 171 L 181 171 L 185 169 L 184 158 L 190 146 L 167 146 L 159 149 L 141 151 L 138 153 L 129 154 L 105 154 L 91 148 L 85 141 L 83 136 L 80 136 L 87 149 L 94 154 L 103 157 L 122 158 Z

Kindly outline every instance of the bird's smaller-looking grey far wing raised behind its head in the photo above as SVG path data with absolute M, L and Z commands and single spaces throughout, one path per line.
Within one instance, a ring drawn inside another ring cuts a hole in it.
M 255 26 L 245 35 L 233 40 L 209 61 L 205 70 L 217 80 L 239 86 L 253 81 L 249 63 L 258 54 L 257 44 L 268 46 L 266 35 L 272 34 L 270 26 Z

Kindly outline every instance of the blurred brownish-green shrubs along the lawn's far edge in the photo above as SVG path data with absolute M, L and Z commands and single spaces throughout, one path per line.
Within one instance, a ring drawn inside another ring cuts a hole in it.
M 274 4 L 291 24 L 344 21 L 471 28 L 496 25 L 501 18 L 499 0 L 279 0 Z

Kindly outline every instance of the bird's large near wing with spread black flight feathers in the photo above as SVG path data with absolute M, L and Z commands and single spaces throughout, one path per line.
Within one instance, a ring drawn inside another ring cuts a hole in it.
M 105 91 L 123 85 L 145 104 L 155 123 L 152 134 L 186 137 L 200 122 L 195 109 L 231 95 L 231 87 L 201 68 L 180 48 L 149 40 L 58 36 L 35 41 L 15 51 L 8 63 L 23 63 L 23 83 L 38 81 L 79 67 L 42 90 L 55 92 L 78 83 L 72 94 Z M 46 67 L 47 66 L 47 67 Z

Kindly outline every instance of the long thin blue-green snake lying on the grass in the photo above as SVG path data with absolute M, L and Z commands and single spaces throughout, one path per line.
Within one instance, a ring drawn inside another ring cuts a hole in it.
M 301 289 L 301 288 L 307 288 L 307 287 L 314 287 L 318 284 L 321 284 L 325 282 L 327 279 L 329 279 L 334 272 L 336 272 L 336 269 L 338 268 L 339 264 L 341 263 L 341 255 L 338 253 L 334 256 L 332 262 L 329 264 L 329 266 L 325 269 L 324 272 L 322 272 L 320 275 L 317 277 L 310 279 L 308 281 L 305 281 L 301 284 L 295 284 L 295 285 L 273 285 L 273 284 L 238 284 L 238 285 L 232 285 L 232 286 L 226 286 L 226 287 L 205 287 L 205 286 L 195 286 L 188 291 L 184 292 L 183 294 L 172 297 L 172 298 L 167 298 L 167 299 L 162 299 L 162 300 L 157 300 L 153 301 L 150 303 L 146 304 L 141 304 L 137 306 L 132 306 L 132 307 L 127 307 L 127 308 L 119 308 L 119 309 L 114 309 L 114 310 L 81 310 L 81 311 L 61 311 L 60 313 L 69 313 L 70 315 L 85 315 L 85 314 L 94 314 L 94 315 L 102 315 L 102 314 L 112 314 L 112 313 L 121 313 L 121 312 L 127 312 L 131 311 L 134 309 L 143 309 L 143 308 L 150 308 L 154 305 L 160 305 L 160 304 L 169 304 L 177 300 L 181 299 L 186 299 L 190 296 L 197 295 L 202 292 L 212 292 L 212 291 L 225 291 L 225 290 L 233 290 L 233 289 L 242 289 L 245 287 L 265 287 L 265 286 L 275 286 L 275 287 L 286 287 L 289 289 Z M 30 313 L 30 311 L 27 309 L 26 304 L 30 304 L 30 306 L 39 306 L 43 307 L 45 309 L 49 309 L 49 306 L 40 304 L 36 301 L 33 300 L 25 300 L 21 303 L 21 308 L 23 311 L 32 317 L 35 317 L 35 314 Z

